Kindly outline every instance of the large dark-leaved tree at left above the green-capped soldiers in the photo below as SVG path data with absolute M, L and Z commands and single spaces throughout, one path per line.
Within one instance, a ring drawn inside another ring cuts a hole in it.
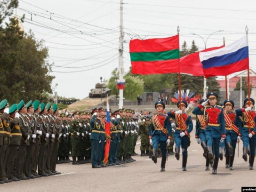
M 6 2 L 0 5 L 4 12 L 0 12 L 0 98 L 7 99 L 9 103 L 19 102 L 20 99 L 25 102 L 42 100 L 43 92 L 52 93 L 51 82 L 54 78 L 49 74 L 51 65 L 46 60 L 48 50 L 42 41 L 35 40 L 31 31 L 29 34 L 20 31 L 18 19 L 10 16 L 18 1 Z M 10 22 L 5 22 L 6 27 L 3 28 L 5 17 L 10 17 Z

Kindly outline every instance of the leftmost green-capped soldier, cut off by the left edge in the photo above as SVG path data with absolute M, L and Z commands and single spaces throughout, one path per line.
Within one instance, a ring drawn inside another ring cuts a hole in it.
M 6 142 L 9 142 L 10 136 L 8 114 L 8 103 L 7 100 L 4 99 L 0 102 L 0 184 L 3 184 L 4 182 L 9 182 L 7 178 L 5 178 L 5 162 L 7 157 L 6 151 L 9 145 L 9 143 L 6 144 Z

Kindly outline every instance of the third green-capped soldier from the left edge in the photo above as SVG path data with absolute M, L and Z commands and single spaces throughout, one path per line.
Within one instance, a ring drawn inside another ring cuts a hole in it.
M 26 152 L 28 150 L 28 147 L 30 145 L 30 135 L 29 135 L 29 119 L 26 116 L 27 113 L 27 107 L 23 100 L 21 100 L 18 104 L 17 109 L 19 110 L 20 114 L 20 120 L 19 120 L 19 126 L 20 131 L 22 133 L 19 153 L 17 156 L 17 160 L 15 162 L 15 168 L 16 168 L 16 177 L 21 180 L 27 180 L 30 179 L 25 176 L 25 170 L 24 163 L 26 158 Z

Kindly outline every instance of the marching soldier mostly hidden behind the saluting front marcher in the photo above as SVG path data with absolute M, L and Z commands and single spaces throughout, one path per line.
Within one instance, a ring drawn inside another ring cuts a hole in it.
M 207 99 L 201 99 L 199 104 L 202 104 Z M 203 110 L 202 108 L 201 110 Z M 205 171 L 210 170 L 210 159 L 207 157 L 208 149 L 206 145 L 206 137 L 205 137 L 205 127 L 207 123 L 205 122 L 205 114 L 204 115 L 196 115 L 196 141 L 198 144 L 201 143 L 201 146 L 204 150 L 203 156 L 206 158 L 205 163 Z

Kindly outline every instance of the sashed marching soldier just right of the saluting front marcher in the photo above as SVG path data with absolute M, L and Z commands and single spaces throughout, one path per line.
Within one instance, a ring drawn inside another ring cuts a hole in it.
M 235 103 L 231 99 L 227 99 L 223 102 L 225 106 L 224 118 L 226 127 L 226 138 L 225 138 L 225 148 L 226 148 L 226 168 L 229 170 L 233 169 L 233 162 L 236 151 L 236 142 L 241 137 L 242 132 L 242 122 L 238 115 L 233 111 Z M 224 143 L 221 143 L 224 146 Z

